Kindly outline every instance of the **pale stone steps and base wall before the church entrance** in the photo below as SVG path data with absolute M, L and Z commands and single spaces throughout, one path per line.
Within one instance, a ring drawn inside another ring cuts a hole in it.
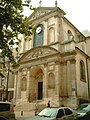
M 15 106 L 15 111 L 23 111 L 23 112 L 40 112 L 42 109 L 44 109 L 45 107 L 47 107 L 47 101 L 48 100 L 35 100 L 33 102 L 27 102 L 27 101 L 18 101 L 16 103 L 16 106 Z M 58 106 L 57 104 L 55 104 L 53 101 L 51 101 L 51 106 L 52 107 L 56 107 Z

